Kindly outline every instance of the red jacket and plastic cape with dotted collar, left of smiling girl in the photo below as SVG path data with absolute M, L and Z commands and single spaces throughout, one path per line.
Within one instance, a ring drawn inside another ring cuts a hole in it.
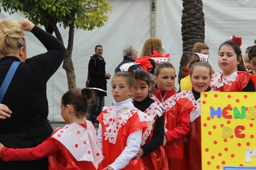
M 151 96 L 157 102 L 161 100 L 161 91 L 155 89 Z M 169 97 L 166 97 L 169 96 Z M 174 89 L 167 91 L 163 101 L 164 126 L 167 143 L 164 149 L 167 154 L 169 169 L 185 169 L 183 136 L 190 130 L 189 114 L 194 108 L 187 98 L 175 94 Z

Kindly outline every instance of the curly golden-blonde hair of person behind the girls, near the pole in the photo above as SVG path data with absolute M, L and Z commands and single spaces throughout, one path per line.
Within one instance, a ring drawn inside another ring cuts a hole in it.
M 157 51 L 159 54 L 162 54 L 162 41 L 159 38 L 150 37 L 148 38 L 142 48 L 141 57 L 151 56 L 153 50 Z

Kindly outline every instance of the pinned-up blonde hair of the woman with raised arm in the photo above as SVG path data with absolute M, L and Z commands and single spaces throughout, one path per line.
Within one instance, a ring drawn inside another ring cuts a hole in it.
M 9 18 L 0 20 L 0 58 L 16 53 L 21 47 L 26 51 L 22 25 Z

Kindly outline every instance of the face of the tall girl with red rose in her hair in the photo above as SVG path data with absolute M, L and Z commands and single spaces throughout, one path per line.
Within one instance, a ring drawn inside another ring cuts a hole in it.
M 230 45 L 223 45 L 218 54 L 218 65 L 225 74 L 232 74 L 237 71 L 237 65 L 241 57 L 237 60 L 235 50 Z

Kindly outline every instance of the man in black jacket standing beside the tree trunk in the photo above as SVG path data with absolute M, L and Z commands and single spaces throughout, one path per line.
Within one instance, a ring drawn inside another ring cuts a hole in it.
M 101 45 L 96 45 L 95 54 L 90 57 L 88 64 L 88 87 L 100 88 L 107 90 L 107 79 L 110 79 L 111 75 L 106 73 L 105 65 L 106 62 L 102 57 L 103 48 Z M 94 127 L 99 127 L 99 122 L 97 122 L 97 117 L 102 111 L 104 96 L 107 96 L 106 92 L 95 90 L 97 94 L 95 103 L 90 106 L 90 120 L 92 121 Z

